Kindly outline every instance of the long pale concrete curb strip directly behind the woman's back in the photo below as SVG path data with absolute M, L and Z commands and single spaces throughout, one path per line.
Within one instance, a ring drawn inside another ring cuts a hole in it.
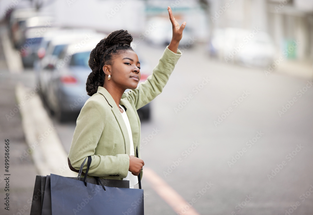
M 21 112 L 22 127 L 29 147 L 23 156 L 32 156 L 40 175 L 52 173 L 76 177 L 77 174 L 69 169 L 68 156 L 36 90 L 38 91 L 37 88 L 26 88 L 22 83 L 15 87 L 17 106 Z

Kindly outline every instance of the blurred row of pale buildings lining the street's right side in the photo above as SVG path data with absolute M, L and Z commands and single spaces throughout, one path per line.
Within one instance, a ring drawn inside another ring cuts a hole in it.
M 277 56 L 300 61 L 313 59 L 312 0 L 208 1 L 211 31 L 258 27 L 274 40 Z

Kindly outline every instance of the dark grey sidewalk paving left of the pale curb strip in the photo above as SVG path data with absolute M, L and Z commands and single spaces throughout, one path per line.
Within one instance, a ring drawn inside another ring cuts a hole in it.
M 1 70 L 0 73 L 8 71 Z M 0 170 L 0 214 L 29 214 L 31 199 L 33 196 L 33 187 L 35 177 L 38 172 L 32 161 L 31 156 L 22 157 L 23 153 L 28 150 L 25 142 L 25 136 L 22 128 L 21 116 L 16 113 L 15 116 L 7 120 L 6 115 L 10 110 L 16 108 L 15 86 L 11 81 L 0 82 L 0 137 L 1 143 L 1 170 Z M 4 168 L 4 140 L 9 139 L 9 172 Z M 9 175 L 9 191 L 5 192 L 6 182 L 4 174 Z M 9 193 L 9 211 L 4 209 L 4 198 Z M 19 212 L 19 213 L 18 213 Z

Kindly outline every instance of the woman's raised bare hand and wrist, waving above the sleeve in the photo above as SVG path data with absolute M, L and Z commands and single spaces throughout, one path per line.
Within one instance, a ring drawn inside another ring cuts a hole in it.
M 170 20 L 172 23 L 173 35 L 170 44 L 168 45 L 168 49 L 172 52 L 176 53 L 179 45 L 179 41 L 182 39 L 182 31 L 186 26 L 186 22 L 183 22 L 181 26 L 179 26 L 178 22 L 175 20 L 172 9 L 170 6 L 167 7 L 168 15 L 170 16 Z

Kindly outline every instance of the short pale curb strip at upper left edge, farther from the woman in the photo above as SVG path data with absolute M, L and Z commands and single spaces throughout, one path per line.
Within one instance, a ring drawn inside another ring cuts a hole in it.
M 13 49 L 7 31 L 1 34 L 1 41 L 9 71 L 11 73 L 21 73 L 23 71 L 22 59 L 18 56 L 17 51 Z

